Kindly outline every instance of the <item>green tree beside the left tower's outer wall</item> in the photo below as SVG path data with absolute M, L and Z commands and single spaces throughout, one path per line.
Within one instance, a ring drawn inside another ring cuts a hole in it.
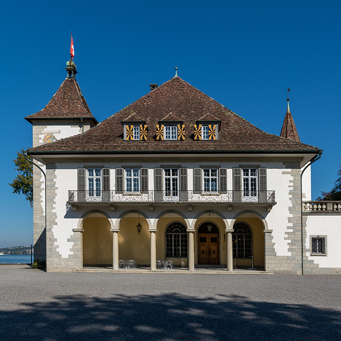
M 26 200 L 30 202 L 32 207 L 33 203 L 33 165 L 28 162 L 22 153 L 24 149 L 20 149 L 17 152 L 17 158 L 13 160 L 15 164 L 15 170 L 18 171 L 18 175 L 14 178 L 11 184 L 8 184 L 12 187 L 13 193 L 24 194 Z M 32 160 L 31 156 L 27 156 L 30 160 Z

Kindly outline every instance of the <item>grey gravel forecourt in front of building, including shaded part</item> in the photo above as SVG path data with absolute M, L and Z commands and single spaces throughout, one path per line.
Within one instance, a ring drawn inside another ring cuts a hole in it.
M 340 340 L 341 276 L 0 266 L 2 340 Z

